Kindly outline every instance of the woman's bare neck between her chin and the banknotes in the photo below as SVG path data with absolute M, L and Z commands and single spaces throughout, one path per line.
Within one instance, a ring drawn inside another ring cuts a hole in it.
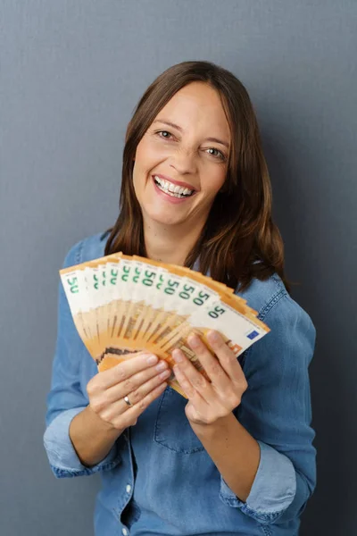
M 146 254 L 154 261 L 183 266 L 201 232 L 201 226 L 188 231 L 183 226 L 144 222 Z

